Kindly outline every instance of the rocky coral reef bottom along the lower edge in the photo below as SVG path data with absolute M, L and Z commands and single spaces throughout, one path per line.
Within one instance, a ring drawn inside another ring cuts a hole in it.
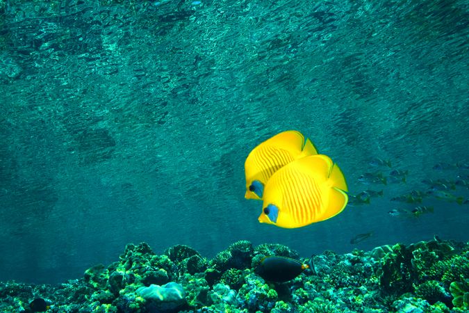
M 312 264 L 283 283 L 258 275 L 263 257 Z M 0 282 L 1 312 L 468 312 L 469 243 L 438 238 L 311 262 L 280 244 L 233 243 L 213 259 L 188 246 L 156 255 L 129 244 L 120 260 L 58 286 Z

